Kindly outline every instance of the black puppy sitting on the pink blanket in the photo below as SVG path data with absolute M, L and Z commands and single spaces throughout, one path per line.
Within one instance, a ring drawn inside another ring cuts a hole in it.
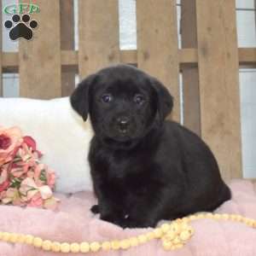
M 230 199 L 218 164 L 200 137 L 165 121 L 168 90 L 136 67 L 107 67 L 84 79 L 73 108 L 95 131 L 90 168 L 102 219 L 122 227 L 212 211 Z

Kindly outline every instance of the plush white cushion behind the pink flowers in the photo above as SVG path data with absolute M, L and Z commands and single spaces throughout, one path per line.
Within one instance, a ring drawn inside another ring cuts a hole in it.
M 17 125 L 32 136 L 55 170 L 56 190 L 73 193 L 92 189 L 87 155 L 93 131 L 70 106 L 68 97 L 49 101 L 0 98 L 0 125 Z

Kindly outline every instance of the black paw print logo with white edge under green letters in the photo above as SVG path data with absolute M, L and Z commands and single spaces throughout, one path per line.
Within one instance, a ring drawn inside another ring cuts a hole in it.
M 25 38 L 30 40 L 33 37 L 33 29 L 38 27 L 37 20 L 30 20 L 29 15 L 13 15 L 12 20 L 6 20 L 4 26 L 9 31 L 9 38 L 16 40 L 18 38 Z

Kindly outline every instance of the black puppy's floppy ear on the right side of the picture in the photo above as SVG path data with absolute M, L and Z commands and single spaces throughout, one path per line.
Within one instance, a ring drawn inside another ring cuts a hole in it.
M 166 116 L 172 112 L 173 97 L 158 79 L 152 78 L 151 84 L 157 93 L 157 108 L 160 114 L 160 119 L 164 120 L 166 119 Z

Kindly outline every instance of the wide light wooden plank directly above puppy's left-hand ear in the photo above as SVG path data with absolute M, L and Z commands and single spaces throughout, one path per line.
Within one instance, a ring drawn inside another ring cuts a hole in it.
M 80 78 L 119 62 L 118 14 L 118 0 L 79 0 Z

